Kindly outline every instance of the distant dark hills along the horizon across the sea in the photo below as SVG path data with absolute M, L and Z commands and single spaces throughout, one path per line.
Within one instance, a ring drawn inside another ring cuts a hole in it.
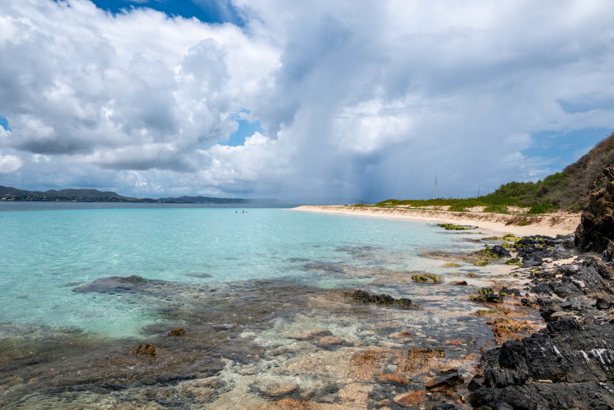
M 169 196 L 166 198 L 133 198 L 119 195 L 112 191 L 95 189 L 64 189 L 60 191 L 26 191 L 0 185 L 0 201 L 64 201 L 64 202 L 134 202 L 134 203 L 189 203 L 189 204 L 243 204 L 243 205 L 279 205 L 279 204 L 355 204 L 359 199 L 322 198 L 317 200 L 301 199 L 280 201 L 279 199 L 257 198 L 215 198 L 212 196 Z

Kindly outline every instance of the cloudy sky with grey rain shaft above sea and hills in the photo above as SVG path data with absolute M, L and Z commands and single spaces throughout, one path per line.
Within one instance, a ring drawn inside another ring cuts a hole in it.
M 614 130 L 605 1 L 3 0 L 0 185 L 475 196 Z

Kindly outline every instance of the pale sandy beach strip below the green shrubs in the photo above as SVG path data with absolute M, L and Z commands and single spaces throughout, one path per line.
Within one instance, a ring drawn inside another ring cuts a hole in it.
M 303 205 L 290 211 L 319 212 L 321 214 L 353 215 L 362 217 L 398 219 L 413 222 L 456 223 L 476 225 L 491 233 L 513 233 L 516 236 L 569 234 L 580 223 L 580 214 L 554 212 L 527 217 L 529 225 L 518 226 L 517 215 L 484 214 L 482 212 L 448 212 L 433 209 L 403 209 L 379 207 L 350 207 L 341 205 Z

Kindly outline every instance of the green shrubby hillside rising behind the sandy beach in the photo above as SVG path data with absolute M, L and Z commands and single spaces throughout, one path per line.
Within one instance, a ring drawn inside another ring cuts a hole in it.
M 486 206 L 484 212 L 497 213 L 507 213 L 508 206 L 520 206 L 530 207 L 527 214 L 543 214 L 556 209 L 580 211 L 594 184 L 599 187 L 604 183 L 597 177 L 610 165 L 614 165 L 614 133 L 597 142 L 593 149 L 562 172 L 537 182 L 508 182 L 476 198 L 386 199 L 375 206 L 449 206 L 449 211 L 458 212 Z

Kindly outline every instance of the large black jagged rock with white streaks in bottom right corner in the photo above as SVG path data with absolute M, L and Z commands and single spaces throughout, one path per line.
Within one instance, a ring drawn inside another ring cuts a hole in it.
M 527 338 L 482 357 L 483 382 L 471 385 L 473 406 L 513 409 L 614 408 L 614 326 L 551 322 Z M 476 384 L 480 384 L 480 388 Z

